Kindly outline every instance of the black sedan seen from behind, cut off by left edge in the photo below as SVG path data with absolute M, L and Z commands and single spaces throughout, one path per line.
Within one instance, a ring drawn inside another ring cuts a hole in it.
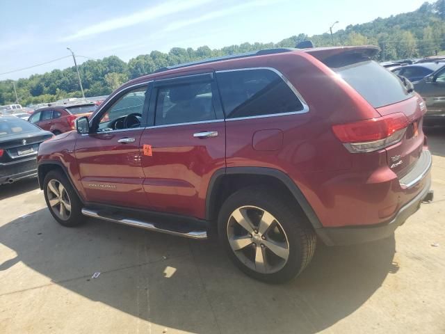
M 0 116 L 0 184 L 37 175 L 38 148 L 54 135 L 15 116 Z

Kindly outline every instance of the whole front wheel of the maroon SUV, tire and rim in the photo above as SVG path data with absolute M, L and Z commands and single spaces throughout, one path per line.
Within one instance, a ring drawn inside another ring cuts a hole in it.
M 81 201 L 59 170 L 51 170 L 44 178 L 44 199 L 60 225 L 73 227 L 83 222 Z

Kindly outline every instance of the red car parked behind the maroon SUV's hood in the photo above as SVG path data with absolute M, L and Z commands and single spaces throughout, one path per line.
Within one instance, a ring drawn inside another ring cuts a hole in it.
M 94 103 L 45 106 L 29 116 L 29 122 L 55 135 L 74 130 L 74 121 L 90 116 L 97 109 Z

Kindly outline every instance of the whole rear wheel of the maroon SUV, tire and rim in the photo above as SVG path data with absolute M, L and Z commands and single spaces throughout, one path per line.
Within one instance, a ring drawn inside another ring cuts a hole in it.
M 241 271 L 268 283 L 298 276 L 316 246 L 307 218 L 286 200 L 256 186 L 227 198 L 218 216 L 218 234 Z

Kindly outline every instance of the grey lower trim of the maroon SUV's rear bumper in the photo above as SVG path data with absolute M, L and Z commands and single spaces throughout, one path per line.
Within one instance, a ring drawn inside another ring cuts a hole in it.
M 420 207 L 423 198 L 426 198 L 430 191 L 430 175 L 426 177 L 426 186 L 410 202 L 403 206 L 388 223 L 378 225 L 353 226 L 346 228 L 320 228 L 316 232 L 318 237 L 327 246 L 345 246 L 352 244 L 362 244 L 364 242 L 375 241 L 390 237 L 398 226 L 405 223 L 408 217 L 414 214 Z

